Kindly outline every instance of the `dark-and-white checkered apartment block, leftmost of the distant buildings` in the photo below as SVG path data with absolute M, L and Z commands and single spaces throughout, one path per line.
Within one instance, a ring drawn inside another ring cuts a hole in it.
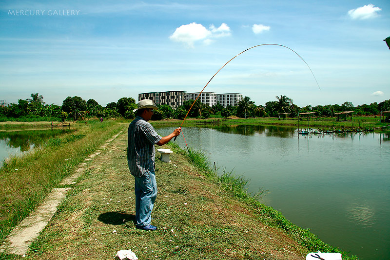
M 169 105 L 172 108 L 181 106 L 186 100 L 185 91 L 148 92 L 138 94 L 138 101 L 149 99 L 156 105 Z

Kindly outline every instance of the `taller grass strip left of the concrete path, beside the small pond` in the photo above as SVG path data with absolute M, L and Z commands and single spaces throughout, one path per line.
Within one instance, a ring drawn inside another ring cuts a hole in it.
M 25 218 L 78 163 L 122 126 L 88 121 L 78 131 L 52 138 L 33 152 L 5 160 L 0 168 L 0 239 Z

